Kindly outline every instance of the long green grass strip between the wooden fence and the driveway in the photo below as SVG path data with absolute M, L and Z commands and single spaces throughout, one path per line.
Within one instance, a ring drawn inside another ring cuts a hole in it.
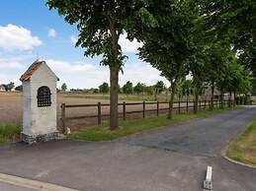
M 209 109 L 204 109 L 201 110 L 197 115 L 195 115 L 193 112 L 183 112 L 180 114 L 175 113 L 172 120 L 167 119 L 165 115 L 160 115 L 159 117 L 148 117 L 145 119 L 126 120 L 120 122 L 120 129 L 116 131 L 110 131 L 109 124 L 105 123 L 102 125 L 91 127 L 80 133 L 68 135 L 67 138 L 85 141 L 112 141 L 135 133 L 140 133 L 143 131 L 148 131 L 167 125 L 175 125 L 198 118 L 204 118 L 215 113 L 220 113 L 230 109 L 234 108 L 214 108 L 213 111 L 210 111 Z

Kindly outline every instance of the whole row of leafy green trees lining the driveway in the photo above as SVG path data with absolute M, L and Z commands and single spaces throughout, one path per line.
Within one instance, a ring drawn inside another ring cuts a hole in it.
M 221 93 L 249 93 L 255 74 L 256 1 L 226 0 L 47 0 L 80 32 L 76 46 L 86 56 L 103 55 L 110 68 L 110 128 L 118 128 L 119 72 L 127 56 L 119 43 L 142 41 L 139 58 L 157 68 L 171 84 L 168 118 L 175 91 L 189 73 L 196 105 L 204 85 Z M 197 106 L 195 109 L 197 112 Z

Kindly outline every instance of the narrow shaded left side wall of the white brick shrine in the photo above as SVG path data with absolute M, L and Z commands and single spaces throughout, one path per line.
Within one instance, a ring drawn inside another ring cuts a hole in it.
M 23 133 L 30 134 L 31 129 L 31 82 L 23 82 Z

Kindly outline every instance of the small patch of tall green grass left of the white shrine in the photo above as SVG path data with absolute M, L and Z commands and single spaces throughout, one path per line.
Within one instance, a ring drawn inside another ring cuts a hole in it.
M 22 125 L 11 123 L 0 124 L 0 144 L 18 141 L 21 131 Z

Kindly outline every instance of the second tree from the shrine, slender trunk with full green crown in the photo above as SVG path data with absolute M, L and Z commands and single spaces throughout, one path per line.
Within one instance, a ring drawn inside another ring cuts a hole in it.
M 158 69 L 161 76 L 170 82 L 171 98 L 167 118 L 173 118 L 176 85 L 187 73 L 189 33 L 193 24 L 184 1 L 165 1 L 160 8 L 158 13 L 161 14 L 157 18 L 159 26 L 146 35 L 143 46 L 139 48 L 139 58 Z

